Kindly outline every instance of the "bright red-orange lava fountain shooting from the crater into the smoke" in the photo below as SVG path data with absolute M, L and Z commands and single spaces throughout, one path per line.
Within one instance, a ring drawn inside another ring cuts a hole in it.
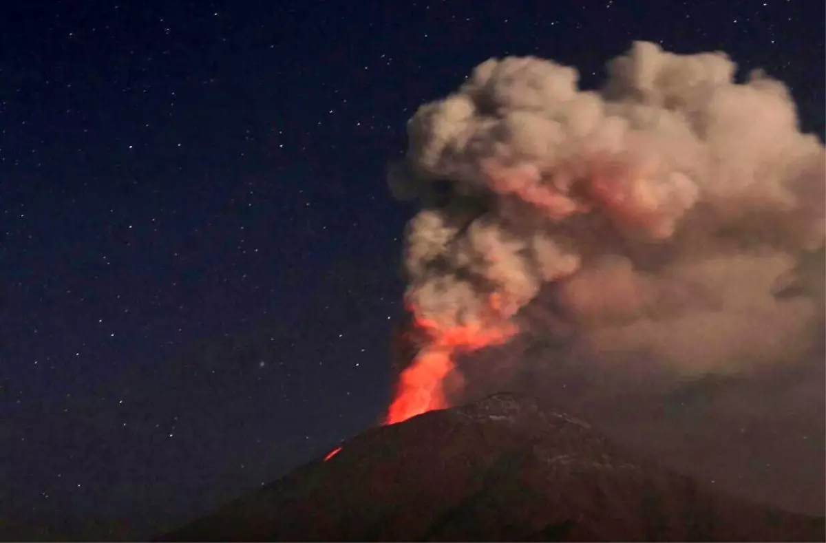
M 495 309 L 499 300 L 491 299 L 491 305 Z M 482 328 L 479 324 L 439 328 L 434 320 L 420 317 L 415 308 L 411 313 L 414 327 L 425 333 L 427 339 L 425 347 L 399 376 L 396 398 L 387 410 L 385 424 L 401 423 L 421 413 L 449 407 L 442 385 L 453 371 L 455 353 L 505 342 L 515 333 L 510 323 L 498 328 Z

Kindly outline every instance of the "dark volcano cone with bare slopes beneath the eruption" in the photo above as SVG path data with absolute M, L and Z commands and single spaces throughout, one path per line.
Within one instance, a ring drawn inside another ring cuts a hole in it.
M 529 397 L 375 427 L 156 543 L 826 541 L 826 519 L 743 502 Z

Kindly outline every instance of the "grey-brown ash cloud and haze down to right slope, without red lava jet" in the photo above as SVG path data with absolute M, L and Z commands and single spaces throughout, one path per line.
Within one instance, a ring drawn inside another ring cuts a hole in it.
M 646 42 L 596 91 L 551 60 L 477 66 L 416 111 L 389 168 L 420 205 L 406 300 L 445 328 L 520 330 L 459 357 L 453 403 L 529 390 L 734 492 L 826 514 L 826 152 L 783 83 L 736 69 Z

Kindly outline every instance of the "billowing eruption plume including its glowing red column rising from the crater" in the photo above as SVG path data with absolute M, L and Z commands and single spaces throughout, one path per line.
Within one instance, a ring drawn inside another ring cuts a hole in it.
M 735 72 L 637 42 L 591 92 L 553 61 L 490 59 L 416 111 L 389 184 L 421 205 L 404 259 L 418 347 L 388 422 L 461 398 L 458 353 L 520 333 L 568 338 L 548 364 L 636 357 L 685 379 L 809 348 L 817 305 L 775 287 L 824 244 L 826 153 L 782 83 Z

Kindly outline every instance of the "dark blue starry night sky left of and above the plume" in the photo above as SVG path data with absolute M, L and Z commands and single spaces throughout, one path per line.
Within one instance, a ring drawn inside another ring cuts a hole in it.
M 818 2 L 10 3 L 0 517 L 125 541 L 382 416 L 411 214 L 385 163 L 485 59 L 594 87 L 632 40 L 725 50 L 826 132 Z

